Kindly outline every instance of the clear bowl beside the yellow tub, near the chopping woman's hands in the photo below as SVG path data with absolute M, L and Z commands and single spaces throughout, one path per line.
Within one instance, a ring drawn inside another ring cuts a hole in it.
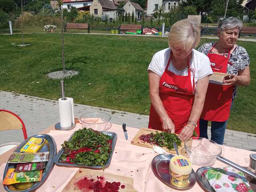
M 198 166 L 212 166 L 222 153 L 220 145 L 206 138 L 189 138 L 184 146 L 192 164 Z

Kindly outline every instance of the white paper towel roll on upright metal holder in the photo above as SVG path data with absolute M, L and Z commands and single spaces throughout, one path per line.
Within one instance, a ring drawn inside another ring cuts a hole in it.
M 70 127 L 72 124 L 72 107 L 70 99 L 59 99 L 60 126 Z

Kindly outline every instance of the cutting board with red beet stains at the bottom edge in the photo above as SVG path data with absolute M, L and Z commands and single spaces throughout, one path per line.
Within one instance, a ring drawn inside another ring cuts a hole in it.
M 120 182 L 119 192 L 136 192 L 132 186 L 132 178 L 85 168 L 80 168 L 76 172 L 62 192 L 93 192 L 93 189 L 90 188 L 96 186 L 97 181 L 102 186 L 106 182 Z M 121 188 L 122 185 L 124 188 Z

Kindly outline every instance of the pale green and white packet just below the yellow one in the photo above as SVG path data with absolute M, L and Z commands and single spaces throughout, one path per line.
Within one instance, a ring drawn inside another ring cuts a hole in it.
M 8 163 L 28 163 L 48 161 L 49 152 L 43 153 L 12 153 Z

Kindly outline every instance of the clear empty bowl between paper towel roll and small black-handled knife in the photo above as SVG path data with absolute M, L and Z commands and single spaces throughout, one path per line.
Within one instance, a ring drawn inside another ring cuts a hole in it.
M 89 112 L 80 116 L 79 121 L 83 128 L 92 128 L 96 131 L 106 131 L 111 128 L 111 116 L 104 112 Z

